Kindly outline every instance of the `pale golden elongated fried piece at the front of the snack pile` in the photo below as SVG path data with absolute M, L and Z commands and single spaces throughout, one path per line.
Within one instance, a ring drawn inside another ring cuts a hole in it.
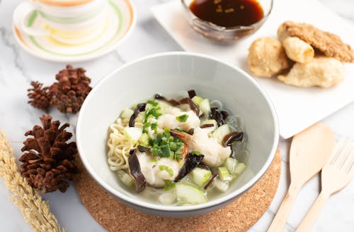
M 287 75 L 278 75 L 278 79 L 287 85 L 326 88 L 340 83 L 344 76 L 345 71 L 341 61 L 319 56 L 309 63 L 295 63 Z

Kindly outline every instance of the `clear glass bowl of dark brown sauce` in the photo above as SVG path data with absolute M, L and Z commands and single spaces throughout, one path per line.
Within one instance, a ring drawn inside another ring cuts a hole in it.
M 272 11 L 272 0 L 181 0 L 193 29 L 205 37 L 231 42 L 250 35 Z

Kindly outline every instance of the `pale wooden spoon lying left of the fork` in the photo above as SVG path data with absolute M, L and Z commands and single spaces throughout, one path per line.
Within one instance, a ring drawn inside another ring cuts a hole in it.
M 295 197 L 304 183 L 319 173 L 329 159 L 334 145 L 333 131 L 316 123 L 292 138 L 290 147 L 290 187 L 268 232 L 283 230 Z

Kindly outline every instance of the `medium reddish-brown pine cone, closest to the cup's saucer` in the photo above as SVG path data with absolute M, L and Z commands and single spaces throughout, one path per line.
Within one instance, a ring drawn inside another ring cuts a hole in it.
M 55 76 L 58 80 L 50 86 L 53 98 L 50 104 L 55 104 L 62 113 L 76 113 L 80 110 L 84 99 L 91 91 L 91 79 L 86 77 L 84 68 L 67 68 Z

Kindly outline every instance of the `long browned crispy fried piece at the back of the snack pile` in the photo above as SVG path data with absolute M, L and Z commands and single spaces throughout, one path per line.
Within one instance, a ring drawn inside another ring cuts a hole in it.
M 298 37 L 312 45 L 326 56 L 339 61 L 354 63 L 354 50 L 345 44 L 338 35 L 324 32 L 307 23 L 286 21 L 278 28 L 278 38 L 283 41 L 287 37 Z

